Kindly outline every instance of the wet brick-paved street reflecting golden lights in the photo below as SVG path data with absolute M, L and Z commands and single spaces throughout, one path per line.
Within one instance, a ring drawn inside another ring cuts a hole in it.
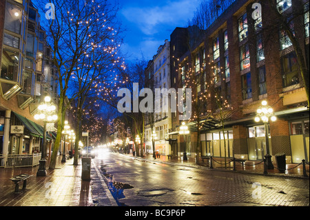
M 309 179 L 190 168 L 112 152 L 93 161 L 118 206 L 309 206 Z

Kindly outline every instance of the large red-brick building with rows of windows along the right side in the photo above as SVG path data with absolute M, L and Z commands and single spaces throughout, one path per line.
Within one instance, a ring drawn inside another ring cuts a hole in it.
M 309 106 L 296 52 L 285 31 L 277 26 L 278 19 L 273 17 L 269 2 L 260 1 L 261 10 L 256 13 L 257 3 L 234 1 L 204 30 L 203 39 L 192 39 L 190 27 L 172 32 L 172 88 L 183 88 L 184 74 L 190 70 L 196 76 L 202 75 L 194 96 L 206 97 L 200 135 L 190 121 L 186 121 L 190 134 L 178 134 L 180 113 L 172 113 L 169 139 L 176 146 L 176 155 L 187 152 L 190 157 L 196 156 L 198 142 L 200 156 L 264 159 L 265 126 L 254 117 L 262 101 L 267 101 L 278 118 L 267 127 L 273 159 L 276 154 L 285 153 L 288 163 L 309 161 Z M 294 28 L 306 57 L 309 75 L 309 1 L 275 3 L 281 14 L 296 17 L 290 28 Z M 206 86 L 211 80 L 212 91 Z M 222 103 L 225 100 L 229 106 L 230 114 L 224 121 L 219 120 L 221 111 L 215 97 L 221 97 Z

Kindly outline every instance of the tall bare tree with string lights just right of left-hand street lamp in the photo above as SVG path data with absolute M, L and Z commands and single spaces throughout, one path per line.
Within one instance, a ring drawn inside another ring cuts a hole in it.
M 114 29 L 115 26 L 118 27 L 116 21 L 118 8 L 112 6 L 107 0 L 51 0 L 50 3 L 54 6 L 52 8 L 54 16 L 45 20 L 46 32 L 54 53 L 53 63 L 58 72 L 60 90 L 57 136 L 50 161 L 50 169 L 54 169 L 65 120 L 65 110 L 68 108 L 64 100 L 70 90 L 72 73 L 78 72 L 79 68 L 85 68 L 81 66 L 82 61 L 86 60 L 88 65 L 95 65 L 94 57 L 99 50 L 113 53 L 113 48 L 118 47 L 114 43 L 114 34 L 118 29 Z M 44 10 L 45 5 L 41 8 Z M 79 93 L 76 93 L 76 97 L 78 96 Z M 72 97 L 73 99 L 75 97 Z

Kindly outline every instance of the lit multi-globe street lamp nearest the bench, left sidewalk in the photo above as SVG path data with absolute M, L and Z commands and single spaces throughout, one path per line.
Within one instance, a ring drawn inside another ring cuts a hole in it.
M 34 114 L 34 119 L 42 120 L 43 126 L 43 148 L 41 152 L 41 159 L 39 161 L 39 169 L 37 171 L 37 177 L 45 177 L 45 151 L 46 151 L 46 124 L 48 122 L 54 122 L 57 120 L 57 114 L 54 114 L 56 106 L 50 102 L 51 98 L 49 96 L 44 97 L 44 102 L 38 106 L 37 114 Z

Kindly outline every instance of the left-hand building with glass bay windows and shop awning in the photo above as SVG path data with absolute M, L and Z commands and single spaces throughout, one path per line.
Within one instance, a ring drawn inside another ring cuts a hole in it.
M 37 8 L 28 0 L 0 6 L 0 166 L 7 166 L 8 155 L 41 152 L 43 122 L 34 113 L 46 95 L 57 103 L 58 83 Z M 48 152 L 52 139 L 48 133 Z

